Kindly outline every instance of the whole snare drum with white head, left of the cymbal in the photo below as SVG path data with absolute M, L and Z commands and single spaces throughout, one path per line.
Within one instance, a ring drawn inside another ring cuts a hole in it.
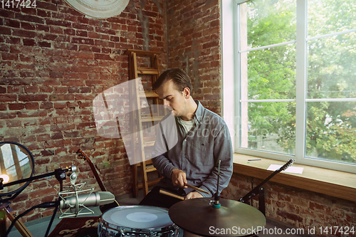
M 99 237 L 178 236 L 168 210 L 156 206 L 117 206 L 99 218 Z

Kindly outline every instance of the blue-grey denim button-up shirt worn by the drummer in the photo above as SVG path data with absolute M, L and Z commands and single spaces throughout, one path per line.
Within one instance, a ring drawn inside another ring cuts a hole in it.
M 187 174 L 188 184 L 200 187 L 210 194 L 200 193 L 204 197 L 214 196 L 217 187 L 218 164 L 220 164 L 219 192 L 226 188 L 232 175 L 232 145 L 228 127 L 216 113 L 204 108 L 198 100 L 194 115 L 195 125 L 186 133 L 173 115 L 166 115 L 162 121 L 162 130 L 158 130 L 153 148 L 152 162 L 164 177 L 158 186 L 174 188 L 171 181 L 173 169 L 181 169 Z M 168 150 L 167 150 L 168 148 Z M 186 194 L 193 189 L 184 189 Z

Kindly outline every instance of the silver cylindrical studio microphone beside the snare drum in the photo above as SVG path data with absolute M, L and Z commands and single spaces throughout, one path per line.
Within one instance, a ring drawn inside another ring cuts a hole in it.
M 114 194 L 110 191 L 96 191 L 91 194 L 79 194 L 62 198 L 59 204 L 60 209 L 78 208 L 83 206 L 103 206 L 115 201 Z

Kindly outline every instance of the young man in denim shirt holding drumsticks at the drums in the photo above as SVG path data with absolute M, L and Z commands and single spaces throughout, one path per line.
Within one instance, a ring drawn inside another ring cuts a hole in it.
M 174 192 L 184 199 L 214 196 L 219 161 L 221 192 L 231 179 L 233 153 L 224 120 L 204 108 L 198 100 L 193 100 L 189 76 L 179 68 L 164 71 L 153 89 L 169 110 L 160 122 L 152 155 L 155 157 L 152 162 L 163 179 L 140 204 L 169 208 L 179 201 L 159 194 L 159 189 Z M 210 194 L 195 191 L 185 184 Z

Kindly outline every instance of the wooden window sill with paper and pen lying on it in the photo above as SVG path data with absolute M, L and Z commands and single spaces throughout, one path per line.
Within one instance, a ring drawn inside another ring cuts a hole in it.
M 248 163 L 248 159 L 261 160 Z M 258 179 L 266 179 L 273 173 L 267 170 L 271 164 L 283 165 L 285 163 L 276 159 L 234 153 L 234 173 Z M 281 172 L 280 174 L 276 174 L 270 181 L 335 196 L 340 199 L 356 201 L 356 174 L 310 167 L 303 164 L 293 164 L 293 167 L 303 167 L 303 174 Z

